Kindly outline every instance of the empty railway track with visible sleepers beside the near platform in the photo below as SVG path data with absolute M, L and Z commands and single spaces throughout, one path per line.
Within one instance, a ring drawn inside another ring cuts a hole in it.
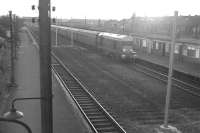
M 81 82 L 64 66 L 61 60 L 53 55 L 56 63 L 52 69 L 66 87 L 72 99 L 95 133 L 125 133 L 125 130 L 87 91 Z

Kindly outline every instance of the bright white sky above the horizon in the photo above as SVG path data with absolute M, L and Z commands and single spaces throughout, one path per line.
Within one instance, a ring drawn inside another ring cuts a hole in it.
M 0 15 L 9 10 L 19 16 L 38 16 L 31 5 L 39 0 L 0 0 Z M 136 16 L 173 15 L 178 10 L 181 15 L 200 15 L 200 0 L 51 0 L 56 6 L 53 17 L 122 19 Z

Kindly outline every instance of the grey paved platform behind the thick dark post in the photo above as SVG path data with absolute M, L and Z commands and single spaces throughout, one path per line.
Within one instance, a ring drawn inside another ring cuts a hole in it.
M 39 51 L 33 45 L 25 31 L 20 33 L 21 45 L 16 61 L 16 83 L 14 97 L 39 97 Z M 71 101 L 66 98 L 60 84 L 53 76 L 53 129 L 56 133 L 86 133 L 87 128 L 77 115 Z M 41 133 L 41 108 L 39 100 L 18 101 L 16 108 L 24 113 L 20 119 L 28 124 L 33 133 Z M 2 125 L 3 124 L 3 125 Z M 1 123 L 0 132 L 26 133 L 27 131 L 15 124 Z

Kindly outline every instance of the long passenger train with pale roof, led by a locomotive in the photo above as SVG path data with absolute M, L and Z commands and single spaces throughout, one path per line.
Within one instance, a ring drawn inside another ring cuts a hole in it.
M 89 45 L 111 58 L 134 61 L 137 57 L 136 51 L 133 49 L 132 37 L 127 35 L 55 25 L 52 25 L 52 30 L 58 30 L 57 34 L 68 40 L 71 40 L 73 36 L 74 41 Z

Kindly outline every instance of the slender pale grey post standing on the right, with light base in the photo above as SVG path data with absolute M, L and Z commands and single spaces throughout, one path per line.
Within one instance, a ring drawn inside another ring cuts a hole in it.
M 172 43 L 171 43 L 172 45 L 171 45 L 171 49 L 170 49 L 169 72 L 168 72 L 168 82 L 167 82 L 167 95 L 166 95 L 166 104 L 165 104 L 165 118 L 164 118 L 164 127 L 165 128 L 168 127 L 177 17 L 178 17 L 178 11 L 175 11 L 174 12 L 173 32 L 172 32 Z

